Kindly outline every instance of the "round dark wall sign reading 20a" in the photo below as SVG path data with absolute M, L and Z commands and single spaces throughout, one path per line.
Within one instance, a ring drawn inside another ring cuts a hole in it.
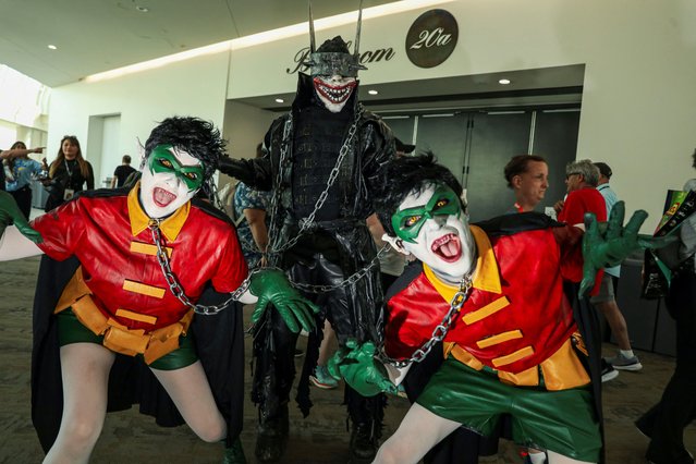
M 449 11 L 426 11 L 406 34 L 406 56 L 416 66 L 435 68 L 452 54 L 457 38 L 456 20 Z

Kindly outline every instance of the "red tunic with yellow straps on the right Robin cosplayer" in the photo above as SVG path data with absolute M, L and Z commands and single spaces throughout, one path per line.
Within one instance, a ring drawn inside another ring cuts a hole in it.
M 479 258 L 474 288 L 445 342 L 491 368 L 517 374 L 549 358 L 576 331 L 563 280 L 582 279 L 582 232 L 573 227 L 490 240 L 472 227 Z M 456 289 L 426 267 L 387 303 L 386 350 L 408 357 L 450 308 Z

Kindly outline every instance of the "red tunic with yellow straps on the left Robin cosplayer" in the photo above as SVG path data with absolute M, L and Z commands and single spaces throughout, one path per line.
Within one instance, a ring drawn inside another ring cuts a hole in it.
M 76 256 L 99 310 L 129 329 L 149 332 L 188 312 L 170 291 L 157 261 L 149 218 L 138 187 L 115 196 L 81 196 L 35 219 L 39 247 L 51 258 Z M 206 283 L 234 291 L 247 274 L 234 227 L 185 204 L 160 224 L 170 266 L 185 294 L 196 302 Z

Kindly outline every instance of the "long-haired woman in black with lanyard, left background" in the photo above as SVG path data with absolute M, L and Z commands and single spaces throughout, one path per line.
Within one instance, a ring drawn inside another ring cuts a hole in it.
M 65 135 L 60 142 L 58 157 L 48 170 L 50 182 L 46 202 L 46 211 L 71 199 L 75 193 L 83 190 L 85 182 L 87 190 L 95 187 L 95 176 L 91 164 L 82 156 L 80 142 L 74 135 Z

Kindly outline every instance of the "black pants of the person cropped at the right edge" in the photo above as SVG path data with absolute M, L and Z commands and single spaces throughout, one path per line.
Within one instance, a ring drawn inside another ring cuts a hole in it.
M 696 274 L 672 279 L 667 307 L 676 321 L 676 368 L 662 399 L 637 420 L 650 435 L 646 456 L 657 463 L 692 464 L 684 448 L 684 428 L 696 418 Z

